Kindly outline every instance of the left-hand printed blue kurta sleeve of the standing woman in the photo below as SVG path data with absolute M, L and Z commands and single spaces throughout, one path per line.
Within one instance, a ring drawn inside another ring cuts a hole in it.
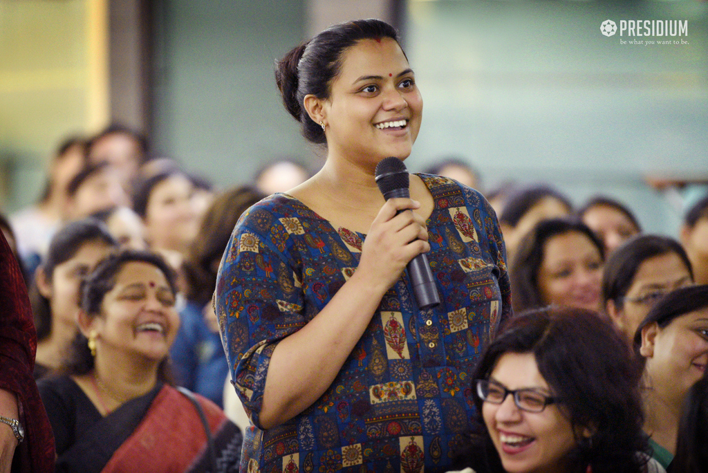
M 265 375 L 278 341 L 307 323 L 297 242 L 306 232 L 291 210 L 297 201 L 275 195 L 236 224 L 222 258 L 215 305 L 236 392 L 254 425 Z M 301 209 L 302 210 L 302 209 Z

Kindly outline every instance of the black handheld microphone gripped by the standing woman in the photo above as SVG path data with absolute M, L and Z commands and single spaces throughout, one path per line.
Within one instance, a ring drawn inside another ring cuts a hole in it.
M 409 174 L 403 161 L 395 156 L 389 156 L 379 161 L 376 166 L 376 185 L 386 200 L 392 198 L 410 198 Z M 399 210 L 399 213 L 402 210 Z M 433 271 L 430 270 L 428 257 L 420 253 L 408 263 L 408 273 L 413 284 L 413 293 L 416 295 L 418 307 L 427 309 L 440 304 L 438 288 L 435 287 Z

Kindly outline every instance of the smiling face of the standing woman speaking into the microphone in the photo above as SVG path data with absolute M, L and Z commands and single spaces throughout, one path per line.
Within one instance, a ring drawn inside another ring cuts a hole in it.
M 367 162 L 372 170 L 387 156 L 409 156 L 423 99 L 399 44 L 392 38 L 360 40 L 341 64 L 321 108 L 329 153 Z

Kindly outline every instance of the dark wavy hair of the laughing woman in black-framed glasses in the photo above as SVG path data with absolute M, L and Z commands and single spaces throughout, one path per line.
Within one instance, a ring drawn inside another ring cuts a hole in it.
M 643 471 L 648 456 L 639 392 L 639 370 L 630 348 L 612 326 L 586 309 L 547 308 L 510 319 L 489 344 L 474 371 L 487 380 L 506 353 L 531 353 L 561 414 L 569 419 L 576 446 L 566 455 L 569 472 Z M 475 396 L 476 446 L 469 462 L 478 471 L 503 472 L 481 415 L 484 401 Z M 585 430 L 592 433 L 585 438 Z M 484 452 L 484 453 L 482 453 Z M 468 462 L 468 465 L 469 465 Z

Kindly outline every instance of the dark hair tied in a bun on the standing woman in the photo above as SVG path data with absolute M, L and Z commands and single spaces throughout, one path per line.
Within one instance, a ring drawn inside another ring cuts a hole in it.
M 374 18 L 348 21 L 327 28 L 276 62 L 275 84 L 280 89 L 282 103 L 300 122 L 302 136 L 309 142 L 324 144 L 326 138 L 321 125 L 312 121 L 304 109 L 304 97 L 312 94 L 329 98 L 331 82 L 341 72 L 344 52 L 360 40 L 378 38 L 392 38 L 400 43 L 396 29 L 384 21 Z

